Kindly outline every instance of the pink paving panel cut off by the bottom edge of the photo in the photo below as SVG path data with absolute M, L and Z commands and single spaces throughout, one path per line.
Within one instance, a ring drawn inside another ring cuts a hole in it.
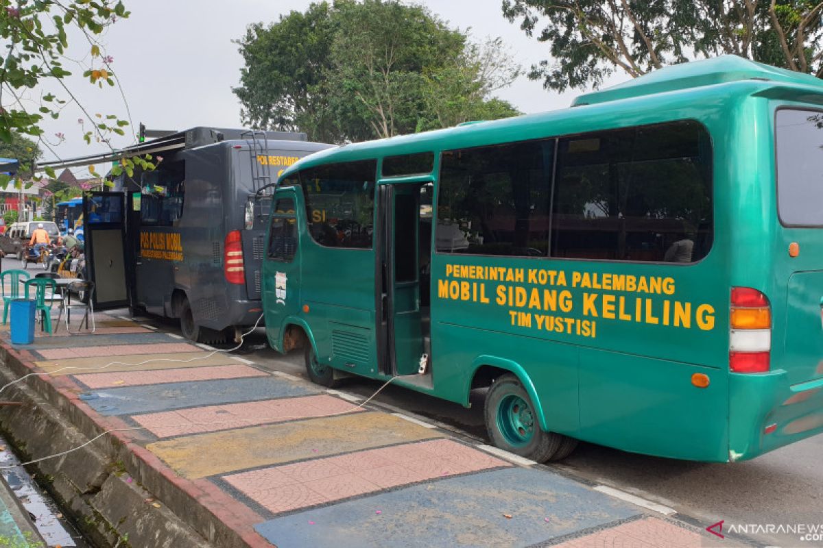
M 689 548 L 702 546 L 702 537 L 658 518 L 638 519 L 591 535 L 566 541 L 556 548 Z

